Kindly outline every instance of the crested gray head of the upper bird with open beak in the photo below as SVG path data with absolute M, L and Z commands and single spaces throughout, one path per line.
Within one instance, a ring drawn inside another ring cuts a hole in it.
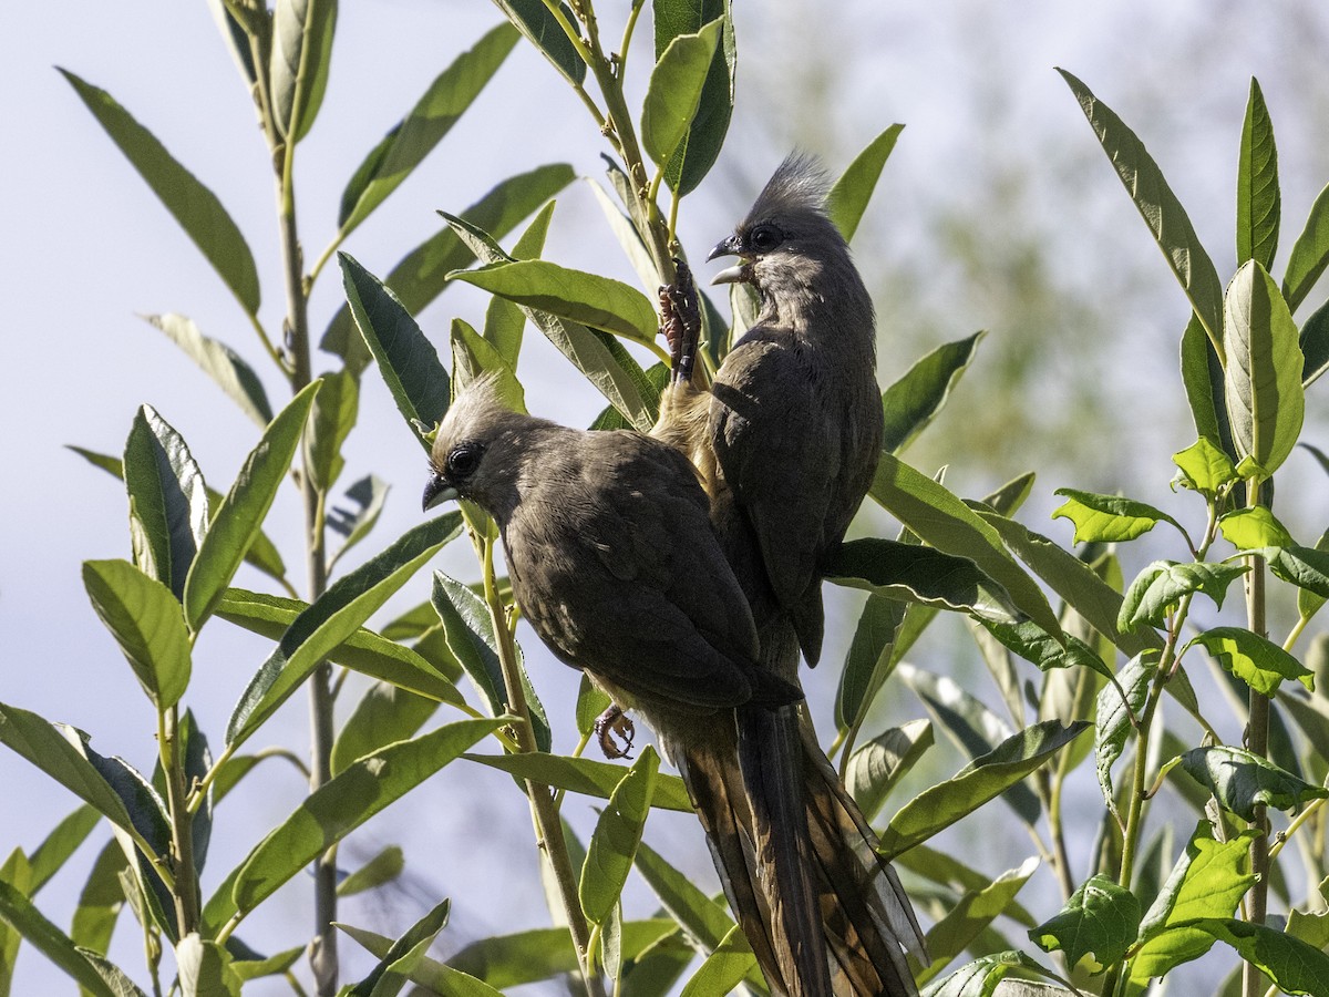
M 707 259 L 739 257 L 712 283 L 752 283 L 764 294 L 807 288 L 849 250 L 827 215 L 828 185 L 817 162 L 793 153 L 767 181 L 747 218 Z

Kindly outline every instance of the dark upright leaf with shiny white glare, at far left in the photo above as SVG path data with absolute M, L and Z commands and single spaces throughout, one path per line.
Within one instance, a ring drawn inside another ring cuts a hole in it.
M 150 405 L 134 416 L 121 475 L 134 564 L 179 598 L 207 533 L 207 488 L 185 439 Z

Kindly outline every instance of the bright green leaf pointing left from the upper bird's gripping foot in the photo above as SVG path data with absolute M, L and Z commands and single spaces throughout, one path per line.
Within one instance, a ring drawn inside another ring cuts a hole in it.
M 655 338 L 658 319 L 650 300 L 635 287 L 613 278 L 542 259 L 492 263 L 480 270 L 461 270 L 453 277 L 528 308 L 639 343 Z

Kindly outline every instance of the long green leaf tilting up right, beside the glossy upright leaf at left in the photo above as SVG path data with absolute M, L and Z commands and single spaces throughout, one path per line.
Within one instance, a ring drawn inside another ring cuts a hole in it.
M 185 580 L 185 622 L 191 630 L 197 631 L 217 608 L 245 553 L 262 530 L 276 491 L 291 471 L 295 448 L 320 384 L 308 384 L 271 421 L 213 516 Z

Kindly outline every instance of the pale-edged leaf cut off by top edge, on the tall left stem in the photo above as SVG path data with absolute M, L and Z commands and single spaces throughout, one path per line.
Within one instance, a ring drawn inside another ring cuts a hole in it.
M 328 82 L 336 0 L 276 0 L 270 86 L 276 132 L 299 142 L 318 117 Z

